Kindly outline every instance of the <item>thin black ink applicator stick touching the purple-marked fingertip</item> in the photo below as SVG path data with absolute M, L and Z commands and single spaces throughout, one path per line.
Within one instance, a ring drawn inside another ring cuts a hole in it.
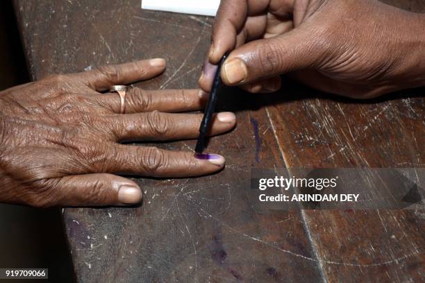
M 197 141 L 197 146 L 195 147 L 195 155 L 202 155 L 202 152 L 206 146 L 206 133 L 210 129 L 211 119 L 213 118 L 213 113 L 215 111 L 215 105 L 217 104 L 217 96 L 219 88 L 222 85 L 222 77 L 220 76 L 223 62 L 227 58 L 227 53 L 224 54 L 222 60 L 220 60 L 215 71 L 215 76 L 213 80 L 213 87 L 211 87 L 210 97 L 206 104 L 205 112 L 203 113 L 203 118 L 201 121 L 201 126 L 199 127 L 199 137 Z

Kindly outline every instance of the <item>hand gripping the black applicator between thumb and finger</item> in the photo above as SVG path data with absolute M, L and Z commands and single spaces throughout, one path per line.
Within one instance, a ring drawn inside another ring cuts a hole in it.
M 199 85 L 209 91 L 232 51 L 222 79 L 249 92 L 276 91 L 286 73 L 352 98 L 424 86 L 424 26 L 425 15 L 374 0 L 222 0 Z

